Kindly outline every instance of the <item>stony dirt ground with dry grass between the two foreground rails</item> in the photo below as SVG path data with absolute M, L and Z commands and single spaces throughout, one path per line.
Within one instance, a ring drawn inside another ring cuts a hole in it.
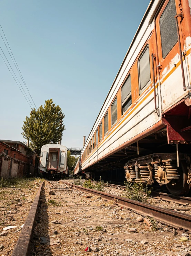
M 50 186 L 55 195 L 49 195 Z M 59 190 L 62 188 L 62 190 Z M 136 219 L 140 215 L 113 201 L 67 187 L 61 181 L 46 182 L 41 194 L 30 255 L 176 255 L 189 256 L 191 244 L 182 233 L 153 220 L 153 226 Z M 91 248 L 91 251 L 85 251 Z

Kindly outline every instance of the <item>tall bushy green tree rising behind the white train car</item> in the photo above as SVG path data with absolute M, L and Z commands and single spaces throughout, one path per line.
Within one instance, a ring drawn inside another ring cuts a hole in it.
M 56 106 L 52 99 L 45 100 L 44 106 L 33 108 L 30 116 L 26 116 L 21 134 L 26 140 L 30 138 L 29 146 L 38 156 L 43 145 L 57 143 L 62 138 L 64 116 L 60 106 Z

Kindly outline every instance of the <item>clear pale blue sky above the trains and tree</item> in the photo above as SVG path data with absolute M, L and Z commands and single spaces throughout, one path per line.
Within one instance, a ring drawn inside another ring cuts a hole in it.
M 23 78 L 37 107 L 52 98 L 62 108 L 68 148 L 89 135 L 149 2 L 1 1 L 0 23 Z M 1 37 L 0 46 L 16 70 Z M 1 56 L 0 88 L 0 139 L 23 141 L 30 107 Z

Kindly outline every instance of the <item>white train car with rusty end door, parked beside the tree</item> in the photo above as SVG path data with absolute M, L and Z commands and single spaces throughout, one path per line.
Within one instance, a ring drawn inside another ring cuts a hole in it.
M 47 144 L 41 148 L 40 172 L 48 177 L 68 175 L 67 147 L 60 144 Z

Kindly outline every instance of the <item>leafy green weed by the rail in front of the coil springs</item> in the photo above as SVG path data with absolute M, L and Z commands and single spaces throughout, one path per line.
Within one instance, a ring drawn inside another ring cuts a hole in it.
M 125 197 L 143 203 L 147 203 L 150 199 L 151 188 L 149 189 L 147 185 L 144 186 L 141 182 L 124 182 L 124 184 L 127 187 L 124 191 Z

